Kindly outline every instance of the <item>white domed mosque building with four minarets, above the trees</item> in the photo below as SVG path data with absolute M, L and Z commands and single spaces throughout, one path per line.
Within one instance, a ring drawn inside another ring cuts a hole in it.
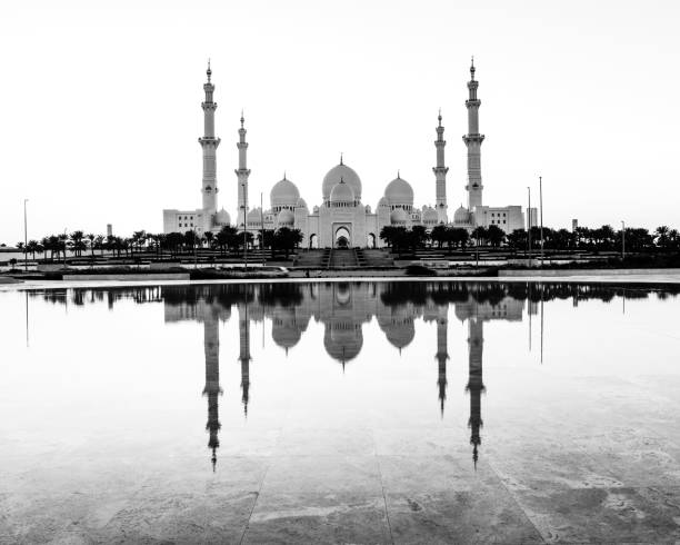
M 302 234 L 302 247 L 330 248 L 341 246 L 352 247 L 382 247 L 380 231 L 386 226 L 423 226 L 428 230 L 439 224 L 462 227 L 472 230 L 478 226 L 489 227 L 496 225 L 506 232 L 524 227 L 524 214 L 521 206 L 491 207 L 482 204 L 481 179 L 481 143 L 484 136 L 479 132 L 479 107 L 481 101 L 477 98 L 479 82 L 474 79 L 474 63 L 470 67 L 470 81 L 468 82 L 468 133 L 463 141 L 468 148 L 468 207 L 460 207 L 453 214 L 452 220 L 448 216 L 446 179 L 449 168 L 444 162 L 443 139 L 444 128 L 441 125 L 441 112 L 438 117 L 437 166 L 434 172 L 434 207 L 418 208 L 413 204 L 413 188 L 401 178 L 390 181 L 383 197 L 378 201 L 373 211 L 369 205 L 361 202 L 361 178 L 343 162 L 331 168 L 323 177 L 321 184 L 321 204 L 309 208 L 300 196 L 297 186 L 286 175 L 274 184 L 270 192 L 270 208 L 252 208 L 248 210 L 248 168 L 244 119 L 241 115 L 239 129 L 239 166 L 236 169 L 238 184 L 238 212 L 234 226 L 239 230 L 248 229 L 257 234 L 262 228 L 278 229 L 289 227 L 299 229 Z M 214 85 L 211 82 L 212 71 L 208 66 L 208 81 L 203 85 L 206 100 L 202 102 L 204 117 L 204 136 L 199 138 L 203 149 L 203 179 L 202 207 L 194 210 L 163 210 L 163 232 L 184 232 L 194 230 L 198 235 L 207 231 L 219 231 L 223 226 L 232 225 L 229 212 L 221 208 L 218 210 L 218 181 L 217 181 L 217 148 L 220 139 L 214 136 L 213 101 Z

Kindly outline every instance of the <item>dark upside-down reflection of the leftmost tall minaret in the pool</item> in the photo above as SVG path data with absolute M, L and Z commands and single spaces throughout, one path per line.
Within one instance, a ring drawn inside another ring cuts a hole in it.
M 212 449 L 212 470 L 217 464 L 217 449 L 220 446 L 218 433 L 220 430 L 220 415 L 218 397 L 222 394 L 220 388 L 220 334 L 219 323 L 216 315 L 206 309 L 203 319 L 203 345 L 206 348 L 206 387 L 203 395 L 208 396 L 208 424 L 206 429 L 210 432 L 208 447 Z

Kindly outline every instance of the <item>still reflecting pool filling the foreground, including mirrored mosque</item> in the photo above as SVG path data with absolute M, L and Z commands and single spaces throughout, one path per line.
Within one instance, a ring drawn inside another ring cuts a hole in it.
M 0 293 L 0 542 L 678 538 L 672 291 Z

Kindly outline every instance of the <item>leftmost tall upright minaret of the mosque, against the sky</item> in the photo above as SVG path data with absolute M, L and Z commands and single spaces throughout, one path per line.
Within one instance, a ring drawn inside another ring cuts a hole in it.
M 203 230 L 212 227 L 212 216 L 217 214 L 217 148 L 220 139 L 214 137 L 214 110 L 217 102 L 212 100 L 214 86 L 211 83 L 212 70 L 208 61 L 206 71 L 208 81 L 203 85 L 206 101 L 201 103 L 203 108 L 203 136 L 199 138 L 199 143 L 203 148 Z

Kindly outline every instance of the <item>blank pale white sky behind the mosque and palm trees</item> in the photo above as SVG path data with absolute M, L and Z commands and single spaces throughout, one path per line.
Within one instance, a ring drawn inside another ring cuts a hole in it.
M 0 6 L 0 242 L 162 230 L 201 202 L 202 85 L 216 85 L 219 206 L 283 171 L 310 207 L 344 162 L 376 207 L 397 176 L 434 202 L 442 109 L 449 216 L 467 201 L 466 83 L 480 82 L 483 200 L 543 221 L 680 228 L 676 1 L 32 1 Z M 532 204 L 533 204 L 532 202 Z

